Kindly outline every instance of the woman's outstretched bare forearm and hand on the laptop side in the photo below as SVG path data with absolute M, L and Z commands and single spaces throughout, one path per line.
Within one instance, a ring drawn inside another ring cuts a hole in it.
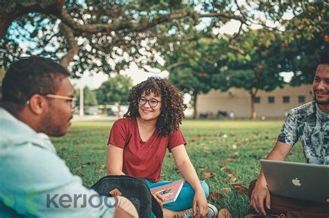
M 205 192 L 201 187 L 198 175 L 189 160 L 189 156 L 186 152 L 184 145 L 178 145 L 171 149 L 171 152 L 174 156 L 176 166 L 180 174 L 184 179 L 192 186 L 194 189 L 194 200 L 193 200 L 193 212 L 196 215 L 196 206 L 199 207 L 199 214 L 205 216 L 208 210 L 207 199 L 205 199 Z

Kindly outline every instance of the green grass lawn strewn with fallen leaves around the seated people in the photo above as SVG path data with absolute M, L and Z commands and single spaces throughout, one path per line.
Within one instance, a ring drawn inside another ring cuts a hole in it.
M 106 144 L 113 122 L 74 122 L 67 136 L 53 138 L 58 155 L 71 172 L 90 187 L 106 176 Z M 208 199 L 219 210 L 228 208 L 233 217 L 244 217 L 250 211 L 246 194 L 233 191 L 232 182 L 248 184 L 260 170 L 264 158 L 276 142 L 282 127 L 279 121 L 249 120 L 184 120 L 181 131 L 187 140 L 187 152 L 200 179 L 210 186 Z M 301 144 L 295 145 L 287 161 L 303 162 Z M 224 167 L 224 168 L 223 168 Z M 211 178 L 203 173 L 214 172 Z M 174 159 L 167 152 L 162 167 L 162 180 L 180 179 Z M 221 196 L 222 194 L 222 196 Z

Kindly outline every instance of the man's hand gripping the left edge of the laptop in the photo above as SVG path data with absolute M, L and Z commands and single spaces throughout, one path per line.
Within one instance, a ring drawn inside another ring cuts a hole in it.
M 261 215 L 266 215 L 264 201 L 267 209 L 271 208 L 271 198 L 266 181 L 256 181 L 255 189 L 251 193 L 251 206 Z

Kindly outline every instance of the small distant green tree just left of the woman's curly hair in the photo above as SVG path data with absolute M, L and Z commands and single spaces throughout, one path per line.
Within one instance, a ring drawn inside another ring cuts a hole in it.
M 126 76 L 117 74 L 103 82 L 96 90 L 97 100 L 101 105 L 125 105 L 128 100 L 128 93 L 133 86 L 132 80 Z

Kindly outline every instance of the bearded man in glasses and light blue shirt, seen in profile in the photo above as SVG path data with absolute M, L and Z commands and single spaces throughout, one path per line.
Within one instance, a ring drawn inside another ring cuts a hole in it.
M 44 57 L 12 63 L 0 102 L 0 217 L 137 217 L 123 197 L 83 187 L 49 136 L 64 136 L 74 112 L 69 73 Z

